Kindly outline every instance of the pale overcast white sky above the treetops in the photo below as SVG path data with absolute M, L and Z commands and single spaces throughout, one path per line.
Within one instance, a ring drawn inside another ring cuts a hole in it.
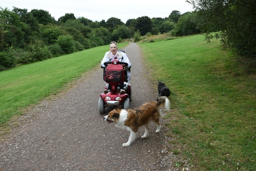
M 128 19 L 147 16 L 150 18 L 168 17 L 172 11 L 180 11 L 181 14 L 193 11 L 190 4 L 185 0 L 158 0 L 158 1 L 139 1 L 139 0 L 5 0 L 0 4 L 2 8 L 13 7 L 27 9 L 45 10 L 51 14 L 55 20 L 64 16 L 66 13 L 73 13 L 76 18 L 84 17 L 100 22 L 111 17 L 119 18 L 123 23 Z

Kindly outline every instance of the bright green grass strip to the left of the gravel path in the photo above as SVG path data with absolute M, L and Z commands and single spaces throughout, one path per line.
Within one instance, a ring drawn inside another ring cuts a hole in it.
M 101 46 L 0 72 L 0 126 L 99 65 L 108 50 Z

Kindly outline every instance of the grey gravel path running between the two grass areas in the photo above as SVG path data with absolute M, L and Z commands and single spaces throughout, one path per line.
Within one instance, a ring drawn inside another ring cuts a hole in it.
M 146 79 L 139 47 L 124 48 L 132 62 L 133 100 L 130 108 L 155 100 L 156 90 Z M 103 54 L 102 54 L 103 57 Z M 0 140 L 0 170 L 175 170 L 166 151 L 163 131 L 122 147 L 130 133 L 106 123 L 98 113 L 103 92 L 103 71 L 98 66 L 76 80 L 65 92 L 44 100 L 18 120 L 11 134 Z M 144 132 L 142 132 L 144 133 Z M 184 168 L 183 168 L 184 169 Z M 188 170 L 188 168 L 186 168 Z

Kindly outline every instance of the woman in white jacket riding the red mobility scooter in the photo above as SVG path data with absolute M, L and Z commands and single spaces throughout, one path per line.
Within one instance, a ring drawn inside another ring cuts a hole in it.
M 129 58 L 127 57 L 126 53 L 123 53 L 118 50 L 117 43 L 115 41 L 112 41 L 110 43 L 110 51 L 106 52 L 103 59 L 101 60 L 101 67 L 105 68 L 104 62 L 109 62 L 112 61 L 113 59 L 118 59 L 121 62 L 126 62 L 128 65 L 124 68 L 126 69 L 127 72 L 127 81 L 130 82 L 131 78 L 131 72 L 129 68 L 132 66 L 132 63 L 130 62 Z M 121 85 L 123 87 L 123 84 Z M 108 91 L 108 90 L 106 90 Z M 124 90 L 120 90 L 120 93 L 124 93 Z

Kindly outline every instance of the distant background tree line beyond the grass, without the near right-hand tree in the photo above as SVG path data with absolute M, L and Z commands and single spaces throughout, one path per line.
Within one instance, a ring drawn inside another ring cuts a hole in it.
M 186 29 L 175 28 L 184 18 Z M 157 35 L 173 31 L 173 35 L 199 33 L 196 24 L 189 21 L 193 13 L 172 11 L 165 18 L 147 16 L 129 19 L 124 24 L 119 18 L 93 22 L 73 13 L 55 20 L 48 11 L 33 9 L 12 10 L 0 7 L 0 71 L 26 63 L 41 61 L 75 51 L 108 45 L 111 41 L 137 37 L 147 33 Z M 186 23 L 187 22 L 187 23 Z

